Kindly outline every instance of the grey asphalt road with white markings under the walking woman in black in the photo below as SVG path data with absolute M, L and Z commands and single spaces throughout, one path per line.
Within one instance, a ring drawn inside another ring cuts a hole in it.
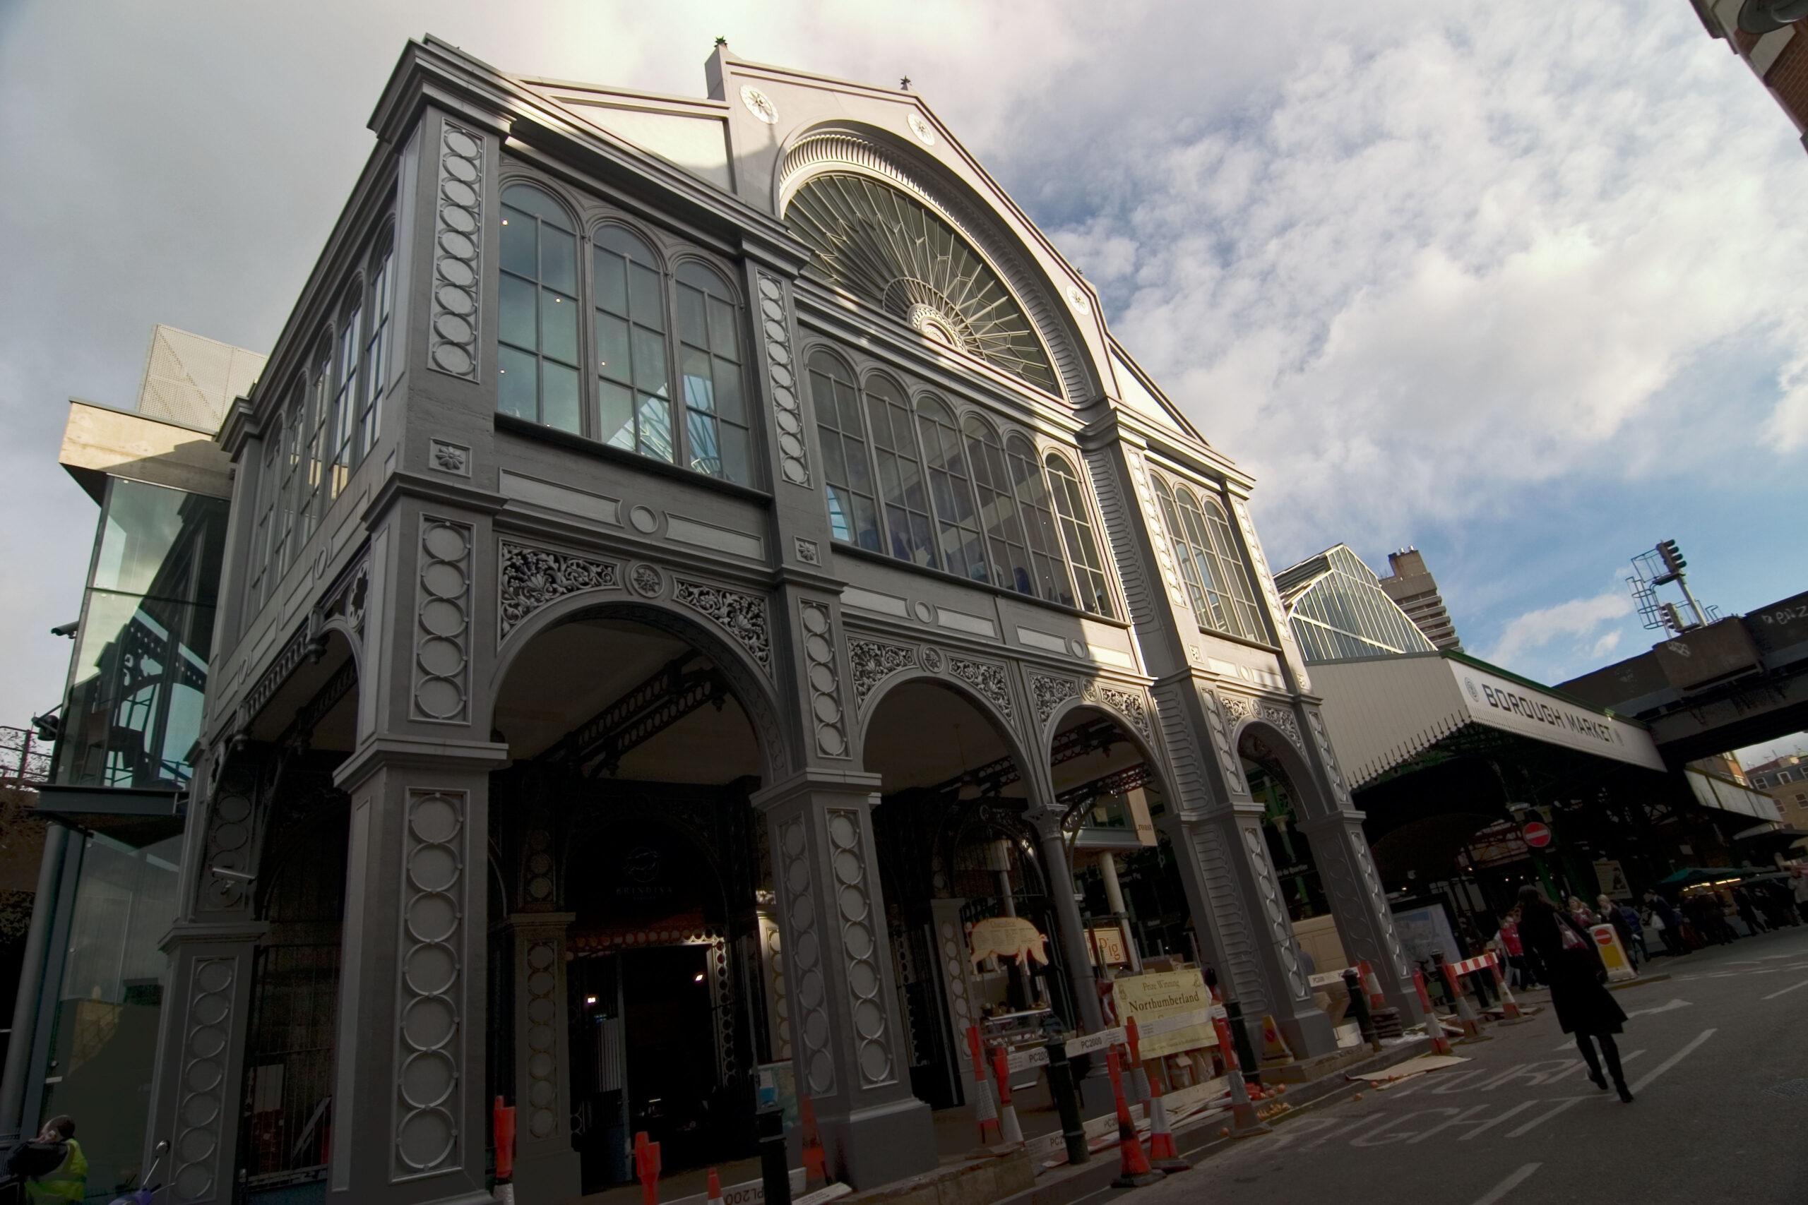
M 1618 992 L 1633 1104 L 1584 1079 L 1546 1008 L 1457 1046 L 1470 1062 L 1361 1100 L 1352 1086 L 1190 1172 L 1074 1205 L 1808 1203 L 1808 925 L 1647 970 L 1671 977 Z

